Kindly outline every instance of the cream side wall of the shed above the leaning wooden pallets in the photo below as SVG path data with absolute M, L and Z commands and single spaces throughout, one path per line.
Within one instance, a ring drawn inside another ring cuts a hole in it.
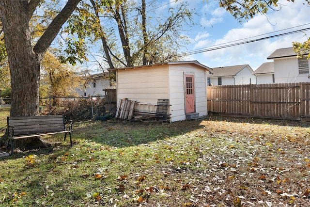
M 117 101 L 123 98 L 156 104 L 169 98 L 167 66 L 117 71 Z

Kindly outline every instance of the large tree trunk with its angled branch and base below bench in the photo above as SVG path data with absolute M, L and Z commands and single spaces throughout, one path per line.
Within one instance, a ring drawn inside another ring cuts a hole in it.
M 32 49 L 29 21 L 40 0 L 0 0 L 0 17 L 11 73 L 10 116 L 38 115 L 41 60 L 79 1 L 67 2 Z M 6 140 L 7 137 L 3 136 L 0 145 Z M 16 147 L 24 150 L 46 146 L 40 137 L 16 142 Z

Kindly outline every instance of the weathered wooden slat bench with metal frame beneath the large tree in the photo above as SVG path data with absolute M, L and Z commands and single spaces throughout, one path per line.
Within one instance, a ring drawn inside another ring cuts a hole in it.
M 65 127 L 67 124 L 69 125 L 68 129 Z M 14 140 L 29 137 L 64 133 L 65 141 L 67 133 L 69 133 L 72 146 L 72 121 L 65 122 L 63 115 L 7 117 L 7 125 L 9 139 L 6 149 L 11 144 L 11 155 L 13 155 Z

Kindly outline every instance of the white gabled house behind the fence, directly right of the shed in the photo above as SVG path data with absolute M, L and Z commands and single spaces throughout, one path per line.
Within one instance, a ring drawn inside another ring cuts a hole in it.
M 256 84 L 256 76 L 248 64 L 215 67 L 208 75 L 208 85 Z

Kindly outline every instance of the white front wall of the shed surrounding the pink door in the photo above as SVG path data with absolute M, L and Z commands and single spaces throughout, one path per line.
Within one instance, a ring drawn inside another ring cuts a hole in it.
M 186 119 L 184 75 L 194 75 L 195 110 L 207 115 L 206 77 L 204 69 L 190 64 L 169 65 L 171 122 Z

